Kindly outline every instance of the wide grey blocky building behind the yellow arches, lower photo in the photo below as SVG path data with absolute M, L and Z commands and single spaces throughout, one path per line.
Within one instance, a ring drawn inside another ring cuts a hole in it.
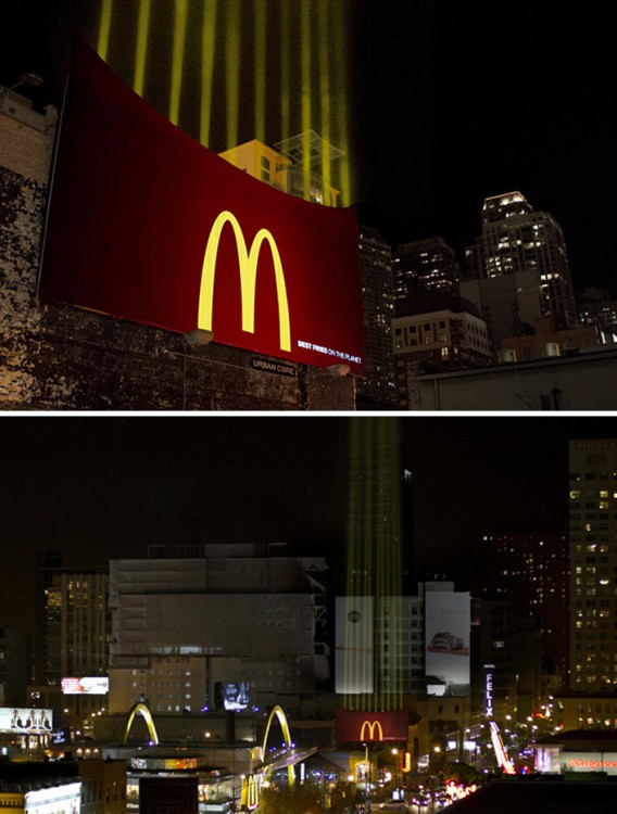
M 285 546 L 151 546 L 110 563 L 110 712 L 284 703 L 327 678 L 323 558 Z M 234 695 L 235 694 L 235 695 Z M 234 696 L 234 698 L 231 698 Z

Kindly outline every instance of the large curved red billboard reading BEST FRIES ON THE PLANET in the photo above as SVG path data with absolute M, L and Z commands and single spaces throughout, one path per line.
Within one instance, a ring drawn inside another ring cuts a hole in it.
M 354 207 L 237 169 L 76 48 L 39 295 L 178 333 L 362 374 Z

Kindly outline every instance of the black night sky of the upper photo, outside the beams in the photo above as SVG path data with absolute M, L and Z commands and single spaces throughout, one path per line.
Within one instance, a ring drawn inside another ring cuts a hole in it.
M 480 232 L 483 199 L 519 190 L 561 224 L 575 288 L 601 285 L 617 296 L 608 259 L 617 7 L 331 2 L 352 8 L 357 22 L 350 69 L 366 217 L 393 242 L 441 234 L 462 257 Z M 14 22 L 3 25 L 11 37 L 0 82 L 37 69 L 48 79 L 39 92 L 58 96 L 67 21 L 88 4 L 4 4 L 0 14 L 10 10 Z

